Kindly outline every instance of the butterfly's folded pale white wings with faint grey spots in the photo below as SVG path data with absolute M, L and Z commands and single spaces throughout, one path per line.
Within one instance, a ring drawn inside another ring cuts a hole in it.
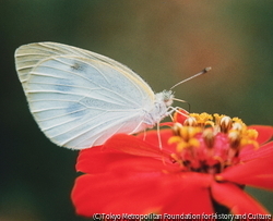
M 52 42 L 22 46 L 15 60 L 31 112 L 54 143 L 83 149 L 144 128 L 154 94 L 127 66 Z

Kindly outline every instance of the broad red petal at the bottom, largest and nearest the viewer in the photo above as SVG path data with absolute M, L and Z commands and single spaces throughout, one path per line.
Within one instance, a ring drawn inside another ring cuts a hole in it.
M 86 217 L 93 213 L 212 213 L 210 182 L 210 175 L 194 173 L 185 176 L 82 175 L 76 179 L 71 197 L 76 212 Z

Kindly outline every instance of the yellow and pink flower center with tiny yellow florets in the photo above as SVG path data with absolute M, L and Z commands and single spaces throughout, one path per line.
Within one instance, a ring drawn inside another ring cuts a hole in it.
M 221 173 L 240 162 L 239 154 L 245 147 L 259 147 L 256 130 L 248 128 L 238 118 L 217 113 L 191 113 L 183 122 L 175 123 L 173 131 L 168 142 L 177 146 L 171 158 L 186 171 Z

